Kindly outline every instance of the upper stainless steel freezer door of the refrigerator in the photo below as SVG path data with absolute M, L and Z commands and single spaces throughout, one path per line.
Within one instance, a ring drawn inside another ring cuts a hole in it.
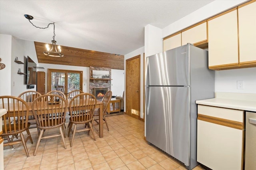
M 147 57 L 146 85 L 190 85 L 189 49 L 190 45 L 183 45 L 181 47 Z

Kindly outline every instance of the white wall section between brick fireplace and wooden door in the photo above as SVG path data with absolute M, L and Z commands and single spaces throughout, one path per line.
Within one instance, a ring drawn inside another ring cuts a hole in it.
M 123 96 L 124 70 L 111 69 L 111 91 L 113 96 Z

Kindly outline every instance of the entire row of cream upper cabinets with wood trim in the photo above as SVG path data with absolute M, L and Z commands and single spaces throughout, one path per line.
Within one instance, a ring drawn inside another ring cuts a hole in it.
M 164 38 L 163 51 L 187 43 L 201 48 L 208 45 L 209 69 L 256 67 L 256 1 L 248 1 Z

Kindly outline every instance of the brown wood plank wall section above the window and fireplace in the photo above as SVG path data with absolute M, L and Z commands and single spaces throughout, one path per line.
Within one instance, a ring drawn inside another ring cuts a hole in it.
M 38 63 L 74 65 L 82 67 L 108 67 L 111 69 L 124 70 L 124 55 L 61 46 L 61 52 L 64 54 L 64 57 L 49 57 L 43 54 L 46 50 L 46 43 L 34 43 Z

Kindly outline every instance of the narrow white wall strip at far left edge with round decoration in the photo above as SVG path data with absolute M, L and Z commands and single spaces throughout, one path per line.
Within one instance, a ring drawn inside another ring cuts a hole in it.
M 12 36 L 0 34 L 0 58 L 5 64 L 0 70 L 0 95 L 11 95 Z

